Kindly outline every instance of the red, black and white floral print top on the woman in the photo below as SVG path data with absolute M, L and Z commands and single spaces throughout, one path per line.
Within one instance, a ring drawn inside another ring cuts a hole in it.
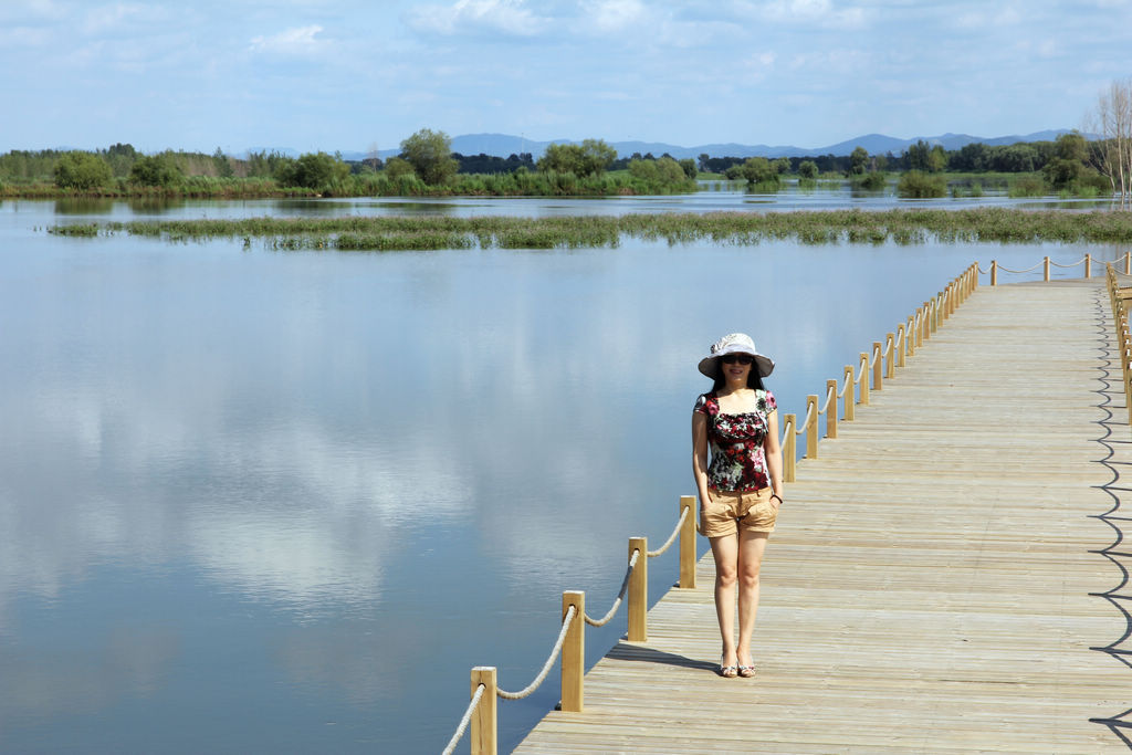
M 755 411 L 741 414 L 721 413 L 714 391 L 696 398 L 693 411 L 707 415 L 709 489 L 747 492 L 770 484 L 763 438 L 766 417 L 775 410 L 778 403 L 770 391 L 756 391 Z

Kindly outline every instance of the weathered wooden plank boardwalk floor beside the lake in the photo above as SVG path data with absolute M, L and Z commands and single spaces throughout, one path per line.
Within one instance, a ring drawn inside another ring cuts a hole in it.
M 648 642 L 585 676 L 585 711 L 549 713 L 515 752 L 1126 752 L 1114 344 L 1103 278 L 981 286 L 799 463 L 755 679 L 713 671 L 707 555 L 700 587 L 649 612 Z

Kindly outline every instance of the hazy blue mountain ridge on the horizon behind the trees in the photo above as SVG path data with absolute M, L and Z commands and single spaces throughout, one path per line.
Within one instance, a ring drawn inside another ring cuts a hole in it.
M 817 155 L 848 155 L 858 146 L 865 147 L 871 155 L 883 155 L 889 152 L 894 155 L 899 155 L 920 139 L 931 145 L 942 145 L 944 149 L 960 149 L 975 141 L 981 141 L 983 144 L 990 146 L 1015 144 L 1018 141 L 1053 141 L 1058 135 L 1066 134 L 1069 130 L 1070 129 L 1055 129 L 1036 131 L 1034 134 L 997 136 L 992 138 L 971 136 L 969 134 L 943 134 L 941 136 L 916 136 L 910 139 L 898 139 L 883 134 L 866 134 L 855 139 L 846 139 L 844 141 L 831 144 L 825 147 L 812 148 L 796 147 L 792 145 L 771 146 L 765 144 L 735 143 L 702 144 L 695 147 L 681 147 L 675 144 L 666 144 L 663 141 L 612 141 L 611 146 L 617 149 L 617 154 L 620 157 L 626 157 L 633 155 L 634 153 L 641 153 L 642 155 L 652 153 L 653 156 L 660 157 L 664 153 L 668 153 L 677 160 L 683 160 L 684 157 L 697 158 L 704 153 L 711 157 L 814 157 Z M 1089 138 L 1095 138 L 1092 135 L 1087 136 Z M 478 155 L 482 153 L 498 157 L 507 157 L 508 155 L 517 155 L 523 152 L 530 152 L 534 155 L 534 158 L 538 160 L 551 144 L 577 143 L 572 141 L 571 139 L 534 141 L 523 136 L 513 136 L 508 134 L 464 134 L 453 137 L 452 151 L 458 152 L 462 155 Z M 272 152 L 273 149 L 285 155 L 298 156 L 298 153 L 294 149 L 281 149 L 278 147 L 254 147 L 249 149 L 249 152 Z M 383 160 L 386 160 L 398 154 L 400 152 L 400 148 L 380 149 L 378 155 Z M 342 153 L 342 157 L 344 160 L 352 161 L 360 161 L 368 156 L 370 156 L 370 153 L 368 152 Z

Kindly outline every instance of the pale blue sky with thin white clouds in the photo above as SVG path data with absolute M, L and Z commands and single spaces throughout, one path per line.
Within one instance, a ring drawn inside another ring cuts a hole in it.
M 1132 0 L 0 0 L 0 152 L 1080 128 Z

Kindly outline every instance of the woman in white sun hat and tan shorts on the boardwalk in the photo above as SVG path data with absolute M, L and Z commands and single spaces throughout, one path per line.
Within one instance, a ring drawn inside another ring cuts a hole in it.
M 700 526 L 715 558 L 715 614 L 723 640 L 719 674 L 728 678 L 755 676 L 751 635 L 758 610 L 758 568 L 782 505 L 778 405 L 762 380 L 773 369 L 774 362 L 758 353 L 749 336 L 723 336 L 700 361 L 700 371 L 715 385 L 696 400 L 692 413 Z

